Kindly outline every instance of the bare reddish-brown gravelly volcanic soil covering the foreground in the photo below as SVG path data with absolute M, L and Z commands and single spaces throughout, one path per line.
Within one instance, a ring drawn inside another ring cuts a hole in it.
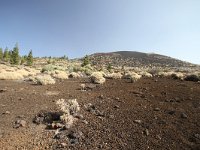
M 199 83 L 107 80 L 81 91 L 86 81 L 69 79 L 48 86 L 0 81 L 0 149 L 200 149 Z M 75 144 L 53 138 L 55 130 L 32 122 L 41 110 L 55 112 L 60 98 L 76 98 L 88 122 L 79 119 L 70 129 L 82 132 Z M 101 115 L 87 111 L 88 103 Z M 13 128 L 18 119 L 27 122 L 25 127 Z

